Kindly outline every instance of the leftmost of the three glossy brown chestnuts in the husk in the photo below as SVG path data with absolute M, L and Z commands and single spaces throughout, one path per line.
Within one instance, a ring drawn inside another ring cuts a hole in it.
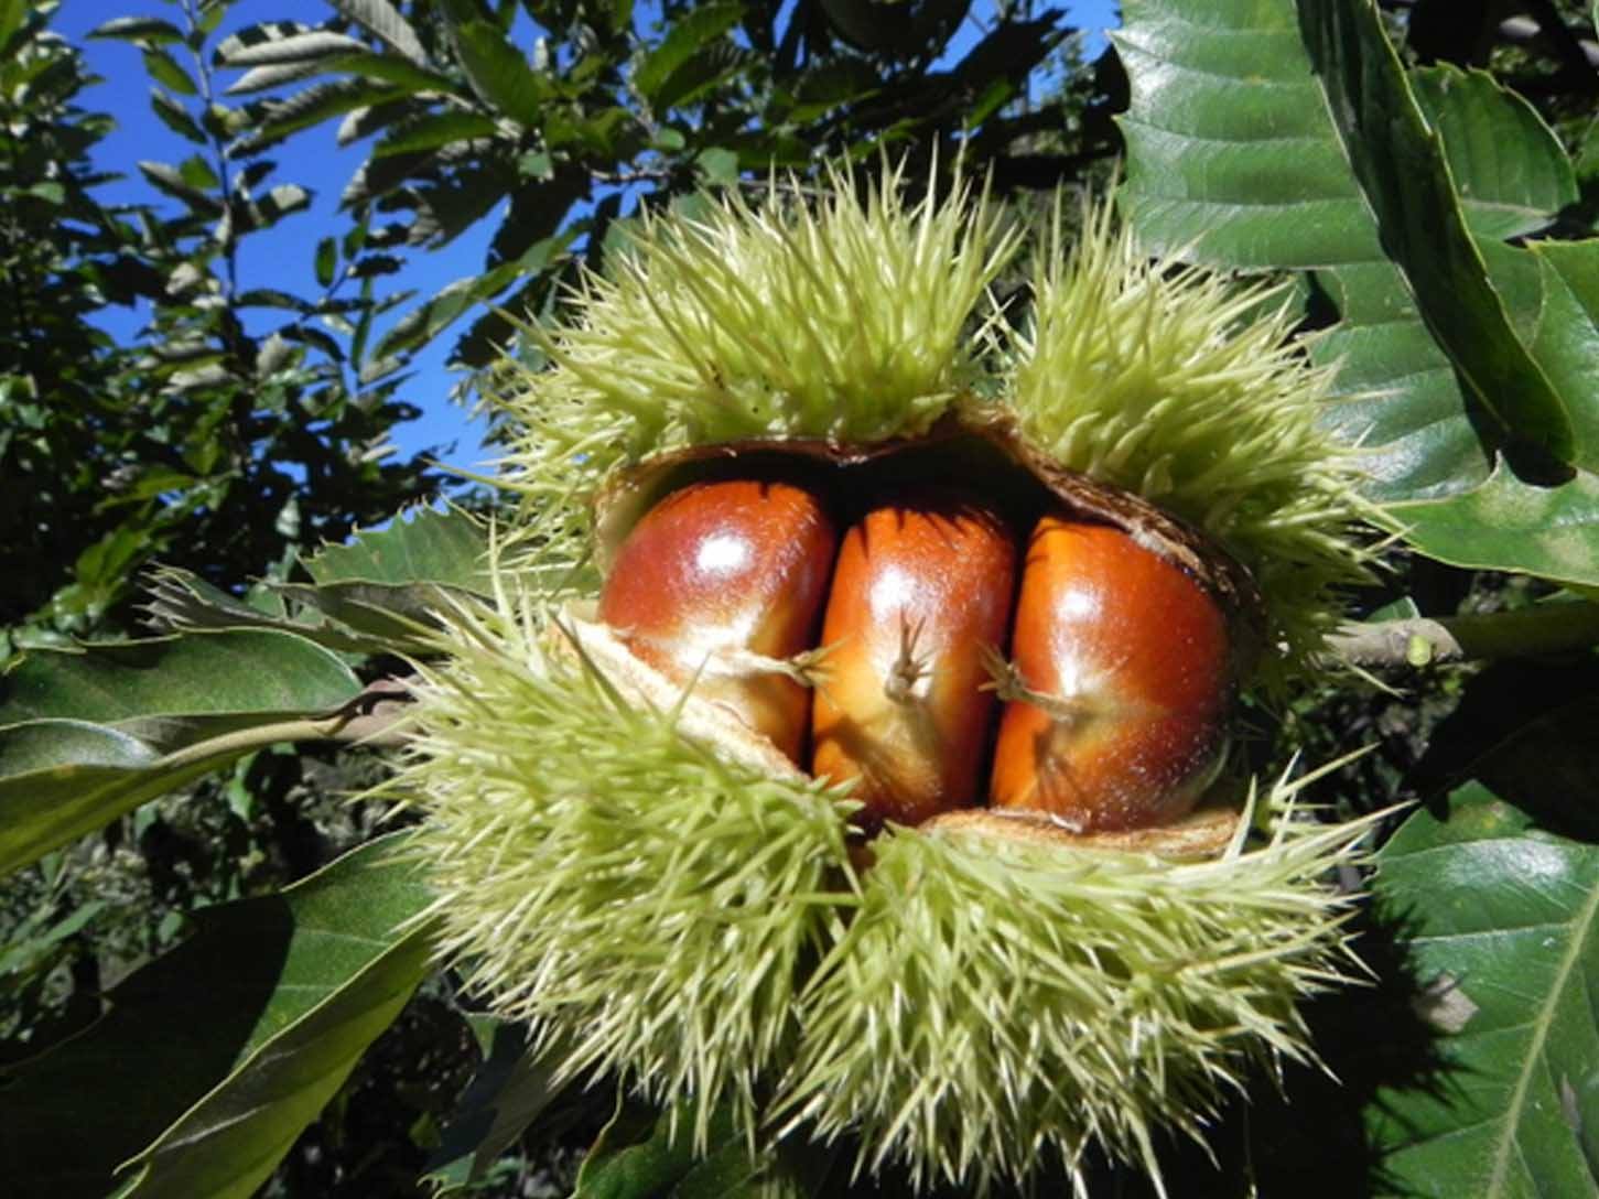
M 624 539 L 600 619 L 798 761 L 811 695 L 779 667 L 814 644 L 836 545 L 825 504 L 801 483 L 691 483 Z

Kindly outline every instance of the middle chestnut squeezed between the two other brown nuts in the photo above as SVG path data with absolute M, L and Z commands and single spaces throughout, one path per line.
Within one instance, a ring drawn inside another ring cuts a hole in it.
M 839 547 L 822 625 L 812 774 L 855 779 L 863 823 L 918 823 L 982 803 L 995 697 L 983 646 L 1004 639 L 1015 537 L 953 491 L 867 512 Z

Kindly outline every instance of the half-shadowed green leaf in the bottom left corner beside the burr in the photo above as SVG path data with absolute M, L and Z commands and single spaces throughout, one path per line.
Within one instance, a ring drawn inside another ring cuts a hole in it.
M 405 835 L 280 895 L 198 914 L 102 1020 L 0 1087 L 0 1173 L 21 1194 L 251 1194 L 429 969 L 430 902 Z M 165 1132 L 163 1132 L 165 1129 Z

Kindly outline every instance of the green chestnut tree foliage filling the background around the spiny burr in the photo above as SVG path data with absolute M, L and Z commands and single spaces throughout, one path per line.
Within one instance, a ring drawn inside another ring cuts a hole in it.
M 1151 251 L 1292 280 L 1391 537 L 1337 644 L 1396 691 L 1345 678 L 1250 747 L 1375 745 L 1327 801 L 1420 801 L 1359 918 L 1374 985 L 1311 1012 L 1337 1079 L 1260 1079 L 1214 1161 L 1159 1146 L 1172 1193 L 1596 1193 L 1593 10 L 1127 0 L 1089 64 L 1046 3 L 257 8 L 107 13 L 192 147 L 109 205 L 93 152 L 128 131 L 53 6 L 0 0 L 8 1193 L 908 1186 L 804 1143 L 694 1154 L 670 1111 L 555 1085 L 433 967 L 405 830 L 339 798 L 382 777 L 397 655 L 488 588 L 477 523 L 384 524 L 438 486 L 382 452 L 413 355 L 536 364 L 524 323 L 643 211 L 886 158 L 963 158 L 1023 222 L 1115 166 Z M 363 153 L 342 224 L 299 291 L 261 286 L 240 245 L 299 219 L 285 176 L 329 136 Z M 477 273 L 387 286 L 480 222 Z M 147 326 L 106 333 L 134 302 Z

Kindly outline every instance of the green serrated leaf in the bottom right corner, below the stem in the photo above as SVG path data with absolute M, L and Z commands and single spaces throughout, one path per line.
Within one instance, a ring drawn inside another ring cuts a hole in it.
M 1372 1135 L 1407 1194 L 1594 1194 L 1599 1164 L 1599 849 L 1537 833 L 1481 785 L 1420 812 L 1378 857 L 1423 1014 L 1434 1081 L 1380 1092 Z

